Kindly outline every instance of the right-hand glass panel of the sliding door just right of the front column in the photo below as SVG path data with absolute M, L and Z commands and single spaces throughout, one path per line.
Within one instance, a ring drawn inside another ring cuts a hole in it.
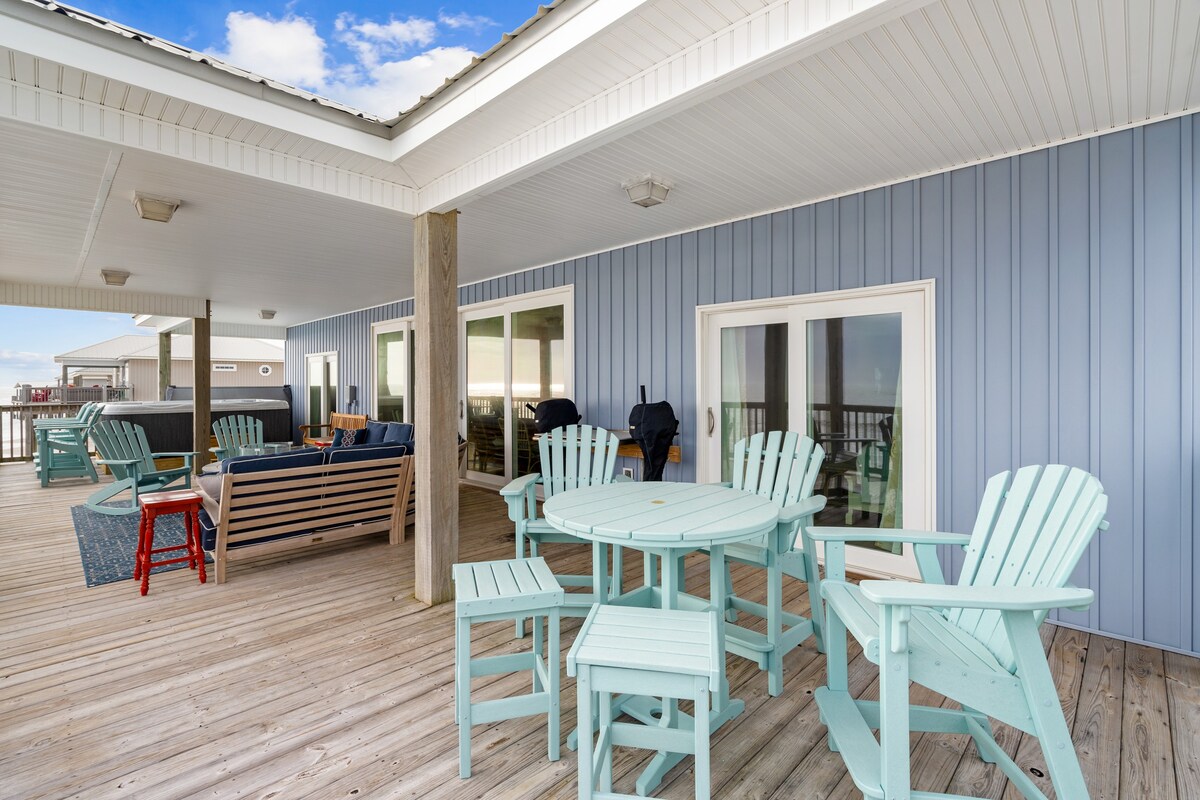
M 533 440 L 534 413 L 529 407 L 544 399 L 566 397 L 566 336 L 563 306 L 512 313 L 512 427 L 509 433 L 511 475 L 540 471 L 538 444 Z

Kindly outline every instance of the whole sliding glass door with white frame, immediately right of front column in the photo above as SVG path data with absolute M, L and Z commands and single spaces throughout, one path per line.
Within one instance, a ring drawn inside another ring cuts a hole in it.
M 462 313 L 461 426 L 468 477 L 539 471 L 533 408 L 571 396 L 571 294 L 553 290 Z

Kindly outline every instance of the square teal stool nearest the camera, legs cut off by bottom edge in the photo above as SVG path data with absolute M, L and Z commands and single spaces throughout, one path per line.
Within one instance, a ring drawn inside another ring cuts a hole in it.
M 581 735 L 580 800 L 637 800 L 612 790 L 616 746 L 691 753 L 696 757 L 696 800 L 708 800 L 709 696 L 720 691 L 722 666 L 716 625 L 713 612 L 592 607 L 566 656 L 566 674 L 578 676 L 577 730 L 590 734 L 595 714 L 600 722 L 594 752 L 592 736 L 584 747 Z M 689 729 L 613 722 L 613 694 L 692 700 L 695 724 Z

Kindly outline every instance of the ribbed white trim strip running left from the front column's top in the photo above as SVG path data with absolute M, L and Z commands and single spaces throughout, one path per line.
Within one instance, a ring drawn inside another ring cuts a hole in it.
M 334 194 L 409 216 L 416 213 L 416 192 L 407 186 L 16 80 L 0 82 L 0 118 Z

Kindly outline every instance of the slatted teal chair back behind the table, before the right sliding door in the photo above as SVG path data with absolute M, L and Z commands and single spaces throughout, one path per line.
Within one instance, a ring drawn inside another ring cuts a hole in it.
M 793 431 L 756 433 L 733 446 L 732 486 L 784 507 L 811 497 L 824 450 Z

